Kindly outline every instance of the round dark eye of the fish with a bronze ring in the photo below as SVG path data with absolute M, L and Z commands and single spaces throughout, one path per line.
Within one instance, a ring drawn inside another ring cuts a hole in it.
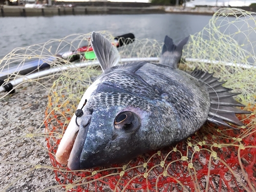
M 139 117 L 130 111 L 118 114 L 115 118 L 114 127 L 116 130 L 136 131 L 140 126 Z

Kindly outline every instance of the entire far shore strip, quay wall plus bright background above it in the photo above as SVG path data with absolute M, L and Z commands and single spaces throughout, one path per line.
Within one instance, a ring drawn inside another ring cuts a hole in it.
M 19 0 L 19 2 L 22 0 Z M 22 1 L 34 2 L 33 0 Z M 45 0 L 46 1 L 46 0 Z M 7 0 L 0 0 L 0 17 L 5 16 L 54 16 L 54 15 L 93 15 L 93 14 L 153 14 L 179 13 L 213 15 L 224 7 L 217 6 L 163 6 L 142 2 L 109 2 L 108 0 L 69 1 L 48 0 L 48 6 L 26 4 L 25 6 L 8 6 Z M 1 5 L 5 4 L 5 5 Z M 34 7 L 33 7 L 34 5 Z M 234 7 L 246 11 L 256 11 L 252 7 Z

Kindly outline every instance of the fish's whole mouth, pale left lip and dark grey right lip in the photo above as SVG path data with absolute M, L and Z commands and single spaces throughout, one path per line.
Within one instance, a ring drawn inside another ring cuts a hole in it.
M 73 118 L 71 119 L 56 152 L 57 162 L 65 165 L 68 164 L 70 170 L 80 169 L 80 156 L 84 142 L 86 141 L 91 119 L 91 117 L 81 117 L 83 120 L 81 121 L 80 127 L 78 127 L 73 123 Z M 87 121 L 86 126 L 83 126 L 85 124 L 83 123 L 84 120 Z

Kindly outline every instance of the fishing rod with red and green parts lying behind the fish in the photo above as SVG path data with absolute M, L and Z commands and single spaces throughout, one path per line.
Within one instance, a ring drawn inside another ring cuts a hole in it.
M 123 45 L 131 44 L 135 40 L 135 36 L 133 33 L 127 33 L 123 35 L 119 35 L 114 37 L 114 44 L 117 48 L 122 47 Z M 84 54 L 82 56 L 82 54 Z M 26 62 L 24 65 L 19 65 L 4 69 L 0 73 L 0 86 L 4 83 L 4 79 L 7 79 L 10 74 L 20 74 L 20 75 L 26 75 L 28 73 L 31 73 L 35 70 L 45 69 L 49 68 L 50 62 L 53 62 L 56 59 L 65 59 L 69 60 L 70 62 L 76 61 L 81 59 L 81 57 L 92 60 L 95 59 L 95 54 L 91 46 L 83 46 L 78 48 L 77 50 L 73 51 L 67 51 L 63 53 L 58 53 L 56 57 L 49 57 L 44 59 L 37 59 L 34 61 Z

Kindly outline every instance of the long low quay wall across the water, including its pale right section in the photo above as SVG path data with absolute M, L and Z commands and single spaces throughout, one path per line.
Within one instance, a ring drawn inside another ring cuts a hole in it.
M 198 14 L 213 15 L 221 7 L 175 7 L 175 6 L 144 6 L 136 7 L 135 4 L 123 6 L 52 6 L 41 8 L 26 8 L 24 6 L 2 6 L 2 17 L 9 16 L 54 16 L 54 15 L 95 15 L 95 14 Z M 138 4 L 140 5 L 140 4 Z

